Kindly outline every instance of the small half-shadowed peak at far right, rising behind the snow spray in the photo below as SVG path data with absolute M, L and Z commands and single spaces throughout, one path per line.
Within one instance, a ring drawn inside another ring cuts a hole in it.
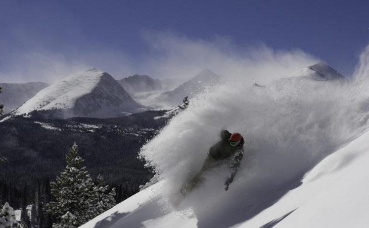
M 345 76 L 341 75 L 338 71 L 328 66 L 325 63 L 317 63 L 309 67 L 299 69 L 292 73 L 292 76 L 305 76 L 310 77 L 317 81 L 332 81 L 332 80 L 344 80 Z

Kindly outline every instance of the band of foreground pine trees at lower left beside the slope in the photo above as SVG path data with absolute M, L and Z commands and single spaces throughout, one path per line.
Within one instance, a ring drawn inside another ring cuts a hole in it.
M 83 159 L 76 144 L 65 159 L 66 167 L 56 180 L 38 182 L 33 194 L 27 185 L 19 190 L 1 180 L 0 202 L 5 213 L 0 214 L 0 227 L 78 227 L 137 192 L 128 184 L 110 187 L 101 175 L 93 181 L 82 166 Z M 20 207 L 20 222 L 15 221 L 12 206 Z

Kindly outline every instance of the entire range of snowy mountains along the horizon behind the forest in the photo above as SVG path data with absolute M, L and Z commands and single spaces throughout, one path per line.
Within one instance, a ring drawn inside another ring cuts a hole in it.
M 299 69 L 293 75 L 313 80 L 345 79 L 325 63 Z M 42 82 L 1 84 L 4 89 L 0 94 L 0 103 L 5 104 L 6 112 L 15 109 L 13 115 L 42 110 L 48 118 L 111 118 L 124 116 L 127 112 L 172 109 L 181 103 L 183 97 L 191 99 L 223 81 L 223 77 L 205 69 L 176 88 L 165 91 L 163 89 L 168 85 L 165 80 L 160 81 L 147 75 L 115 80 L 108 73 L 93 68 L 50 86 Z

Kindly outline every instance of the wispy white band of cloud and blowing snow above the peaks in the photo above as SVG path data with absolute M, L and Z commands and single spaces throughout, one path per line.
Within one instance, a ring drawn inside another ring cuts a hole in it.
M 91 67 L 106 71 L 117 79 L 147 74 L 159 79 L 184 81 L 205 68 L 221 75 L 243 77 L 250 66 L 259 64 L 260 60 L 275 60 L 277 68 L 299 68 L 316 61 L 302 50 L 273 50 L 263 43 L 237 45 L 232 39 L 220 36 L 204 40 L 168 31 L 144 30 L 142 39 L 147 51 L 139 56 L 100 47 L 55 52 L 44 49 L 41 44 L 32 44 L 32 50 L 17 51 L 9 56 L 7 67 L 0 70 L 0 81 L 52 83 Z

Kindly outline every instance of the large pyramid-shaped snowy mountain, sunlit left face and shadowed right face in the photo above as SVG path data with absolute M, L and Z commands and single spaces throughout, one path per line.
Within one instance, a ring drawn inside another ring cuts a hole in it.
M 55 82 L 12 114 L 47 110 L 53 118 L 109 118 L 142 108 L 144 106 L 135 102 L 112 76 L 93 68 Z

